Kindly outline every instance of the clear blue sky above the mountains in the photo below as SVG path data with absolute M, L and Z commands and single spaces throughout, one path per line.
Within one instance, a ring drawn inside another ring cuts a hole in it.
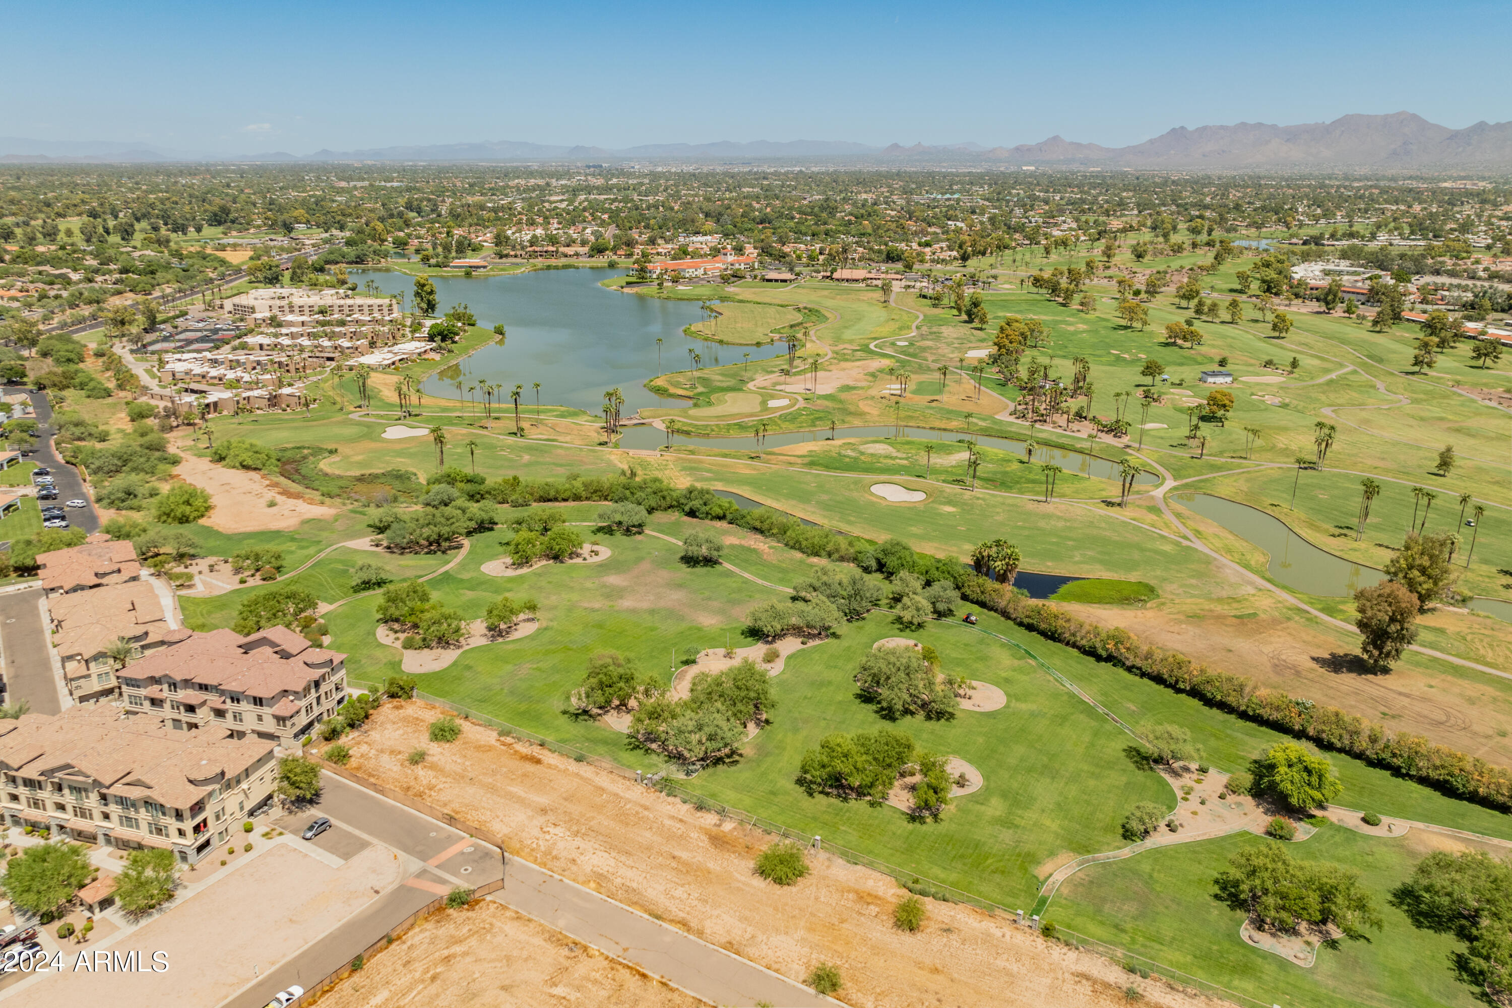
M 6 15 L 0 135 L 307 154 L 484 139 L 1123 145 L 1402 109 L 1465 127 L 1512 118 L 1498 56 L 1476 56 L 1506 11 L 60 0 Z

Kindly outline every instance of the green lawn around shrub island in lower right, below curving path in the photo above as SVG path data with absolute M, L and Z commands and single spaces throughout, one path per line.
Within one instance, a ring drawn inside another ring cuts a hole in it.
M 1247 946 L 1244 914 L 1213 898 L 1213 880 L 1246 846 L 1276 843 L 1253 834 L 1199 840 L 1145 851 L 1122 861 L 1081 869 L 1066 880 L 1048 913 L 1057 925 L 1185 970 L 1284 1008 L 1353 1005 L 1471 1008 L 1480 1003 L 1455 981 L 1450 954 L 1458 942 L 1418 931 L 1390 905 L 1429 846 L 1411 839 L 1368 837 L 1329 825 L 1287 851 L 1302 860 L 1332 861 L 1361 873 L 1382 931 L 1323 948 L 1312 969 Z

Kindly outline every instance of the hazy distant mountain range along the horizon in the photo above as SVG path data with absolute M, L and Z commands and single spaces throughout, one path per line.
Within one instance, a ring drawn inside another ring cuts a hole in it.
M 717 144 L 644 144 L 623 150 L 525 141 L 479 141 L 380 147 L 295 156 L 172 151 L 110 141 L 35 141 L 0 138 L 6 163 L 103 162 L 742 162 L 823 159 L 829 163 L 1018 165 L 1046 168 L 1211 168 L 1211 169 L 1415 169 L 1512 168 L 1512 122 L 1476 122 L 1464 130 L 1438 125 L 1411 112 L 1346 115 L 1332 122 L 1269 125 L 1238 122 L 1176 127 L 1132 147 L 1101 147 L 1052 136 L 1039 144 L 983 147 L 940 144 L 872 147 L 848 141 L 751 141 Z

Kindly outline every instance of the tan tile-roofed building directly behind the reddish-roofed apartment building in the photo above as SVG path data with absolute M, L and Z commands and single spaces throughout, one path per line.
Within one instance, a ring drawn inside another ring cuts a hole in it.
M 189 630 L 174 629 L 156 585 L 145 580 L 57 595 L 47 601 L 47 611 L 53 621 L 53 650 L 74 703 L 118 695 L 118 666 L 189 638 Z M 116 645 L 130 651 L 112 654 Z

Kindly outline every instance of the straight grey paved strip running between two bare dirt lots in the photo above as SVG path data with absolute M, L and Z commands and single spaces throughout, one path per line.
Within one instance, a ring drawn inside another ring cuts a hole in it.
M 488 896 L 715 1005 L 836 1005 L 801 984 L 543 867 L 508 858 Z

